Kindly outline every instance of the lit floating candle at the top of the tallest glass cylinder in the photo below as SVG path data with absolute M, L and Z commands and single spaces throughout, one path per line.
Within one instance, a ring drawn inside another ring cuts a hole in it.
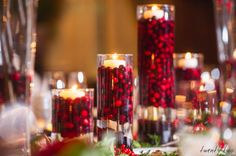
M 152 6 L 151 10 L 144 12 L 143 17 L 145 19 L 155 17 L 156 19 L 162 18 L 164 16 L 164 11 L 158 8 L 156 5 Z

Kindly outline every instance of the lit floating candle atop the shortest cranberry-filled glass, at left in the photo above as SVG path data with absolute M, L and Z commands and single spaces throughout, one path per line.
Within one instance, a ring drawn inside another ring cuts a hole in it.
M 67 99 L 67 98 L 75 99 L 78 97 L 85 96 L 85 92 L 78 90 L 76 86 L 73 86 L 71 89 L 63 89 L 60 92 L 60 96 L 63 97 L 64 99 Z

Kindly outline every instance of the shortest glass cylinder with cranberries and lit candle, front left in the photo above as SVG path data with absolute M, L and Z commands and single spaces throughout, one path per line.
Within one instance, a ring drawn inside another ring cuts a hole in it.
M 52 137 L 86 137 L 92 142 L 93 89 L 54 89 L 52 91 Z

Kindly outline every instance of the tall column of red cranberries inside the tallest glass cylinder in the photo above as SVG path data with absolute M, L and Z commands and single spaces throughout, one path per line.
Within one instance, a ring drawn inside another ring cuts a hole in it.
M 174 21 L 164 18 L 138 21 L 140 103 L 174 107 Z

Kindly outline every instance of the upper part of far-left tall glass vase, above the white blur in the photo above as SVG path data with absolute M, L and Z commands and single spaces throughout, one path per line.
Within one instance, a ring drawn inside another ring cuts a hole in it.
M 0 104 L 29 103 L 36 52 L 36 0 L 0 5 Z

